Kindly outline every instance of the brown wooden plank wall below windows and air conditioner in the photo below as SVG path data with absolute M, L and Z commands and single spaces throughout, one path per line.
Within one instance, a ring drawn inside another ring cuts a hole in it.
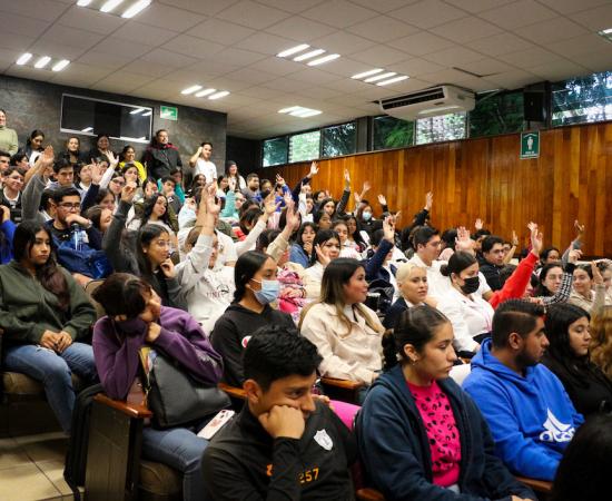
M 586 225 L 585 254 L 612 256 L 612 122 L 542 131 L 537 159 L 521 160 L 519 150 L 520 136 L 506 135 L 326 159 L 319 161 L 313 188 L 339 197 L 346 168 L 354 190 L 361 191 L 366 179 L 372 183 L 367 199 L 375 214 L 381 213 L 376 196 L 382 193 L 404 220 L 423 207 L 425 193 L 432 190 L 436 227 L 472 228 L 481 217 L 495 234 L 510 237 L 515 229 L 525 244 L 526 224 L 534 220 L 546 245 L 565 247 L 578 218 Z M 280 173 L 293 187 L 309 165 L 258 174 L 274 179 Z

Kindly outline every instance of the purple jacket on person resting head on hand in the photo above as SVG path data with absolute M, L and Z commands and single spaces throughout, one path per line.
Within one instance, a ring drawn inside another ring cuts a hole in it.
M 223 358 L 191 315 L 162 306 L 158 323 L 161 333 L 152 347 L 180 362 L 198 381 L 216 385 L 224 372 Z M 111 399 L 126 399 L 138 374 L 138 351 L 145 345 L 147 328 L 140 318 L 116 322 L 103 316 L 96 323 L 93 357 L 100 382 Z

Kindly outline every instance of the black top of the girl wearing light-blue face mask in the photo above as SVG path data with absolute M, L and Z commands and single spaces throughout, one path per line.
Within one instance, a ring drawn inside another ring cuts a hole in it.
M 290 315 L 273 310 L 269 305 L 261 313 L 255 313 L 238 303 L 227 307 L 210 333 L 213 347 L 224 358 L 224 383 L 243 385 L 243 350 L 255 331 L 270 324 L 295 328 Z

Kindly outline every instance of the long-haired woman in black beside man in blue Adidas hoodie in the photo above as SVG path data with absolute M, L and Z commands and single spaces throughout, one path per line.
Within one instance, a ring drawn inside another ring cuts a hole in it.
M 551 343 L 542 358 L 563 383 L 578 412 L 585 418 L 612 411 L 612 380 L 589 356 L 591 316 L 580 306 L 555 304 L 546 312 Z

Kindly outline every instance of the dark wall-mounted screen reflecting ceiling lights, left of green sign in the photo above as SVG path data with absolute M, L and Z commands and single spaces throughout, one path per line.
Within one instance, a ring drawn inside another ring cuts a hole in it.
M 61 97 L 62 132 L 82 136 L 108 134 L 134 143 L 151 140 L 152 108 L 71 96 Z

